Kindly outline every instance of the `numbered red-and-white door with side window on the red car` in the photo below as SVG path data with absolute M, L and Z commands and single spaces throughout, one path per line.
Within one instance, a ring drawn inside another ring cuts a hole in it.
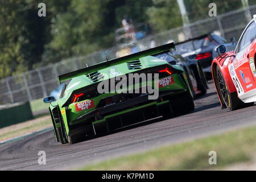
M 236 58 L 231 58 L 233 62 L 229 65 L 230 76 L 237 88 L 238 97 L 256 88 L 249 61 L 249 51 L 254 42 L 255 34 L 256 24 L 251 21 L 238 42 L 235 52 Z

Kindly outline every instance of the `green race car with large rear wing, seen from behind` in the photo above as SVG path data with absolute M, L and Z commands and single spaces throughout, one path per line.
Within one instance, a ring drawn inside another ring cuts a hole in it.
M 60 97 L 44 98 L 50 103 L 57 142 L 72 144 L 148 119 L 192 111 L 195 86 L 188 71 L 155 56 L 171 49 L 174 43 L 60 75 L 59 82 L 64 83 Z

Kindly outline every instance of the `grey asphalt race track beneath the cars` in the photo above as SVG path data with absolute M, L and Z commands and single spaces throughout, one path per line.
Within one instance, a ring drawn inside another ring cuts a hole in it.
M 213 84 L 209 84 L 207 95 L 195 100 L 195 106 L 187 115 L 165 121 L 154 119 L 72 145 L 56 143 L 52 130 L 1 144 L 0 170 L 74 169 L 256 124 L 255 105 L 236 111 L 221 110 Z M 45 165 L 38 164 L 39 151 L 46 152 Z

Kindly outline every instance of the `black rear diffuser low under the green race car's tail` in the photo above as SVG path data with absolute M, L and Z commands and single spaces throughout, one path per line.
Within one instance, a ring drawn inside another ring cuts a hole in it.
M 92 123 L 79 123 L 72 126 L 69 130 L 69 136 L 81 133 L 107 133 L 115 129 L 130 126 L 135 123 L 146 121 L 148 119 L 172 114 L 171 104 L 169 101 L 152 102 L 139 107 L 134 107 L 126 111 L 110 114 L 103 119 Z

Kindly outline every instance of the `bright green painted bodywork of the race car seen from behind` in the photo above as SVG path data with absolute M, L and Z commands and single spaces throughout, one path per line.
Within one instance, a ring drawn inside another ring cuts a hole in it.
M 82 123 L 88 122 L 88 118 L 84 117 L 86 114 L 93 113 L 93 111 L 97 109 L 97 106 L 104 98 L 119 94 L 116 92 L 102 93 L 97 94 L 96 96 L 92 96 L 90 98 L 86 98 L 86 100 L 79 100 L 78 102 L 73 102 L 72 99 L 75 97 L 74 94 L 77 92 L 77 90 L 86 90 L 86 88 L 88 88 L 89 86 L 91 88 L 97 88 L 97 85 L 104 80 L 109 80 L 117 76 L 127 75 L 129 73 L 143 73 L 151 69 L 160 70 L 164 68 L 170 68 L 174 70 L 174 73 L 171 74 L 173 78 L 173 83 L 158 88 L 159 93 L 170 92 L 170 96 L 178 96 L 181 93 L 189 93 L 189 95 L 192 96 L 192 90 L 188 84 L 188 79 L 184 73 L 183 68 L 180 65 L 171 65 L 166 60 L 160 60 L 157 57 L 152 56 L 155 53 L 167 51 L 168 49 L 172 48 L 174 48 L 174 44 L 170 43 L 139 53 L 134 53 L 133 55 L 105 61 L 104 63 L 93 65 L 92 67 L 82 68 L 78 71 L 59 76 L 59 82 L 61 83 L 65 81 L 67 84 L 65 84 L 63 91 L 61 92 L 61 96 L 56 101 L 51 102 L 51 104 L 49 105 L 49 111 L 52 116 L 53 131 L 56 140 L 61 140 L 60 138 L 64 137 L 64 135 L 67 135 L 68 138 L 72 136 L 72 126 L 79 126 L 80 124 L 82 125 Z M 127 67 L 127 63 L 134 60 L 137 60 L 141 63 L 139 69 L 129 69 L 129 67 Z M 88 75 L 95 72 L 104 75 L 104 77 L 101 77 L 97 80 L 91 79 L 91 77 Z M 168 77 L 168 75 L 166 77 Z M 158 80 L 152 80 L 151 85 L 154 85 L 155 81 Z M 143 84 L 148 85 L 148 82 L 140 82 L 139 86 Z M 128 88 L 122 89 L 129 90 Z M 77 105 L 81 103 L 84 104 L 86 101 L 90 101 L 90 107 L 88 107 L 88 109 L 77 111 Z M 169 104 L 170 102 L 170 100 L 148 101 L 149 102 L 147 102 L 146 104 L 141 104 L 139 106 L 134 105 L 124 110 L 111 111 L 109 114 L 105 114 L 103 117 L 98 119 L 95 116 L 95 119 L 90 119 L 89 123 L 86 123 L 86 126 L 92 126 L 92 129 L 94 129 L 94 125 L 97 125 L 98 123 L 105 123 L 107 120 L 109 121 L 109 119 L 111 122 L 111 118 L 117 118 L 119 115 L 130 113 L 143 108 L 150 108 L 155 106 L 159 107 L 161 105 L 163 106 Z M 96 134 L 95 129 L 94 134 Z

